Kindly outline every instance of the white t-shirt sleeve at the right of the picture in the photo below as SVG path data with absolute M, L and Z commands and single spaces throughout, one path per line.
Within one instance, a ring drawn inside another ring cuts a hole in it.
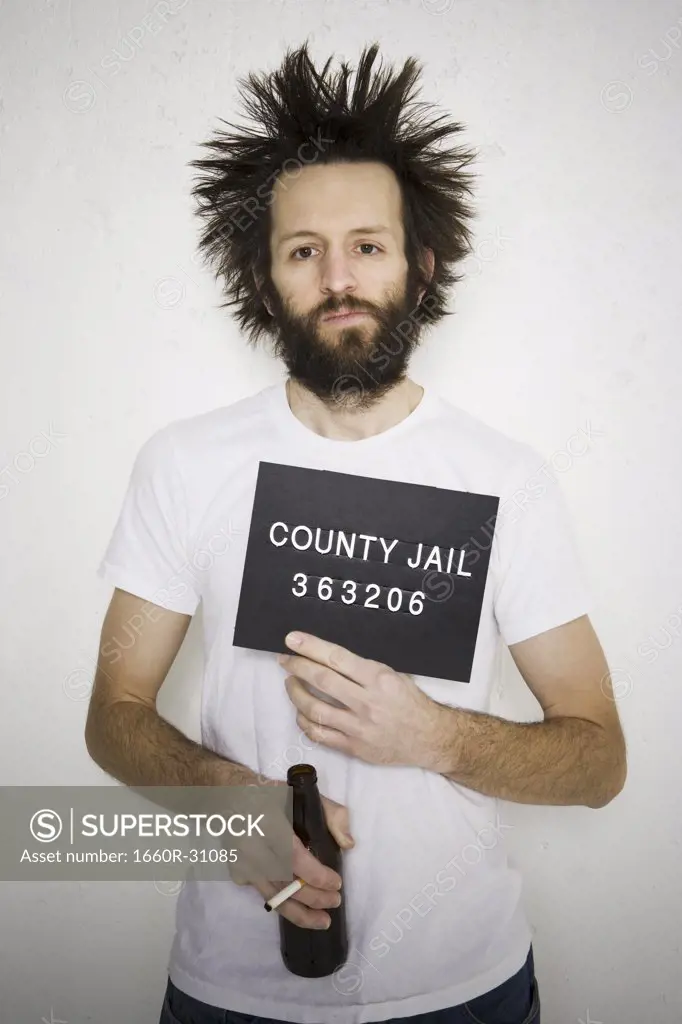
M 508 646 L 594 607 L 558 479 L 529 446 L 501 496 L 492 554 L 495 616 Z

